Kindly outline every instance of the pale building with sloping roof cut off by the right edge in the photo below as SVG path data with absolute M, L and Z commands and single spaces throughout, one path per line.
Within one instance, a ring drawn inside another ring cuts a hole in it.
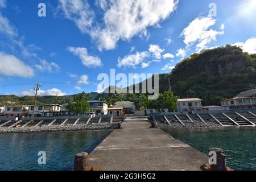
M 232 109 L 256 109 L 256 89 L 241 92 L 237 96 L 221 102 L 222 107 Z

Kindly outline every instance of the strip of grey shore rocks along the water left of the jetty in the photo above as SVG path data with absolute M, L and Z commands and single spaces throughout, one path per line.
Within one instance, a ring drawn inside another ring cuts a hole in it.
M 89 123 L 77 124 L 77 125 L 52 125 L 52 126 L 39 126 L 39 127 L 24 127 L 24 128 L 0 128 L 0 134 L 15 134 L 15 133 L 50 133 L 50 132 L 69 132 L 69 131 L 95 131 L 95 130 L 114 130 L 117 127 L 117 123 Z

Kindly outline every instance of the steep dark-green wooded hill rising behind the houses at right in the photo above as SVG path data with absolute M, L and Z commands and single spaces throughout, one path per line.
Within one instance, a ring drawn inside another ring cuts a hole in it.
M 199 97 L 204 105 L 220 105 L 221 100 L 256 87 L 256 55 L 229 45 L 208 49 L 181 61 L 168 77 L 181 98 Z

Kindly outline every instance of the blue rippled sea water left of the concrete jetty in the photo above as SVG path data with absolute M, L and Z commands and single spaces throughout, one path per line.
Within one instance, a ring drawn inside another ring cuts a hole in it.
M 0 171 L 72 170 L 74 156 L 91 152 L 111 130 L 66 133 L 0 134 Z M 38 152 L 46 152 L 46 165 Z

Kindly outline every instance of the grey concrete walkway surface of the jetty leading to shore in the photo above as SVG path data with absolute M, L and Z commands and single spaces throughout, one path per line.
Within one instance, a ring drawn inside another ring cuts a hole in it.
M 161 129 L 146 118 L 127 118 L 89 154 L 89 166 L 104 171 L 200 170 L 208 156 Z

